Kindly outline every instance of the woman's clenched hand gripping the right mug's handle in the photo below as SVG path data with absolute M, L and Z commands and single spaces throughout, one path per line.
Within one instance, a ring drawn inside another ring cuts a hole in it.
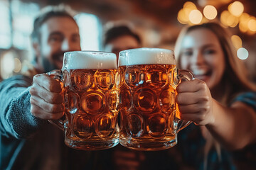
M 197 125 L 214 122 L 213 98 L 204 81 L 193 79 L 182 81 L 177 86 L 176 103 L 181 112 L 181 119 L 191 120 Z

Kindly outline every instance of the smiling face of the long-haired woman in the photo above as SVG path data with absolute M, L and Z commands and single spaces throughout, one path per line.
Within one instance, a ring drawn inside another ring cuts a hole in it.
M 181 67 L 190 69 L 197 79 L 206 82 L 209 89 L 219 84 L 223 77 L 224 52 L 218 38 L 208 29 L 198 28 L 186 35 L 181 60 Z

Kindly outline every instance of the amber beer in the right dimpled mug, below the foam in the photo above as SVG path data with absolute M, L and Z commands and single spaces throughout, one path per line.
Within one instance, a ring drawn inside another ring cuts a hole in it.
M 176 66 L 122 66 L 119 75 L 119 142 L 137 150 L 176 145 Z

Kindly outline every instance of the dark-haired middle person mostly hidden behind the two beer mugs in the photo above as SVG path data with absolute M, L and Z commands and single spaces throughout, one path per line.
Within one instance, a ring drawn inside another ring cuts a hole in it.
M 129 25 L 117 24 L 106 30 L 103 45 L 105 51 L 114 52 L 118 58 L 119 52 L 122 50 L 142 47 L 142 39 Z M 168 150 L 134 151 L 119 144 L 105 151 L 105 157 L 110 154 L 112 155 L 112 166 L 118 170 L 178 169 L 175 161 L 170 162 Z

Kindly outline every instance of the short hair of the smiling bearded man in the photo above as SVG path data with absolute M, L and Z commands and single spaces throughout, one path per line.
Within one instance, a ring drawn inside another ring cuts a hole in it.
M 49 18 L 52 17 L 60 17 L 65 16 L 70 19 L 72 19 L 75 22 L 75 19 L 73 18 L 73 14 L 70 11 L 70 8 L 67 8 L 68 6 L 59 5 L 59 6 L 46 6 L 46 8 L 43 8 L 41 10 L 41 13 L 36 17 L 34 23 L 33 23 L 33 32 L 31 34 L 31 38 L 33 42 L 40 42 L 40 27 L 45 23 Z M 76 23 L 76 22 L 75 22 Z

